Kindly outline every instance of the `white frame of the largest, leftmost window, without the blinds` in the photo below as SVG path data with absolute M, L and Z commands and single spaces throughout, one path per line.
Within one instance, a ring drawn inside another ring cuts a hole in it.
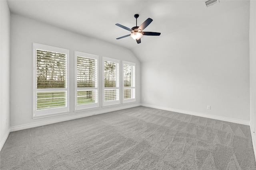
M 66 88 L 37 88 L 37 50 L 66 54 Z M 37 110 L 37 92 L 66 92 L 66 106 Z M 69 50 L 50 45 L 33 43 L 33 115 L 32 119 L 68 114 L 69 107 Z

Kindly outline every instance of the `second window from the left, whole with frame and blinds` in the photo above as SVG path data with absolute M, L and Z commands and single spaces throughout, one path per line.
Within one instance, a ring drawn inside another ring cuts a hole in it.
M 75 51 L 75 111 L 99 107 L 98 58 Z

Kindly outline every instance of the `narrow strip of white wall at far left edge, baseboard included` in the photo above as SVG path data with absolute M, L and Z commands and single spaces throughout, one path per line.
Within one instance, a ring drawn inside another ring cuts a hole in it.
M 0 1 L 0 150 L 10 131 L 10 10 Z

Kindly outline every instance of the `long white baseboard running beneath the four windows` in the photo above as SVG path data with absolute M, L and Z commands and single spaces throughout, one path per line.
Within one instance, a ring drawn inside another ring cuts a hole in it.
M 48 121 L 40 121 L 40 122 L 36 122 L 36 123 L 28 123 L 28 124 L 25 124 L 25 125 L 13 126 L 13 127 L 10 127 L 10 132 L 20 131 L 20 130 L 23 130 L 23 129 L 29 129 L 29 128 L 32 128 L 32 127 L 38 127 L 38 126 L 43 126 L 43 125 L 49 125 L 49 124 L 52 124 L 52 123 L 58 123 L 58 122 L 62 122 L 62 121 L 72 120 L 72 119 L 78 119 L 78 118 L 92 116 L 92 115 L 98 115 L 98 114 L 107 113 L 107 112 L 110 112 L 110 111 L 117 111 L 117 110 L 127 109 L 127 108 L 130 108 L 130 107 L 136 107 L 136 106 L 140 106 L 140 104 L 125 105 L 125 106 L 121 106 L 121 107 L 116 107 L 116 108 L 111 108 L 111 109 L 104 109 L 104 110 L 100 110 L 100 111 L 92 111 L 90 113 L 73 115 L 73 116 L 68 116 L 68 117 L 63 117 L 63 118 L 58 118 L 58 119 L 52 119 L 52 120 L 48 120 Z

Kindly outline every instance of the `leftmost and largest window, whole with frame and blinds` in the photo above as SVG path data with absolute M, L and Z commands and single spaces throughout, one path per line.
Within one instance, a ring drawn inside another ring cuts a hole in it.
M 33 43 L 33 118 L 69 111 L 68 49 Z

